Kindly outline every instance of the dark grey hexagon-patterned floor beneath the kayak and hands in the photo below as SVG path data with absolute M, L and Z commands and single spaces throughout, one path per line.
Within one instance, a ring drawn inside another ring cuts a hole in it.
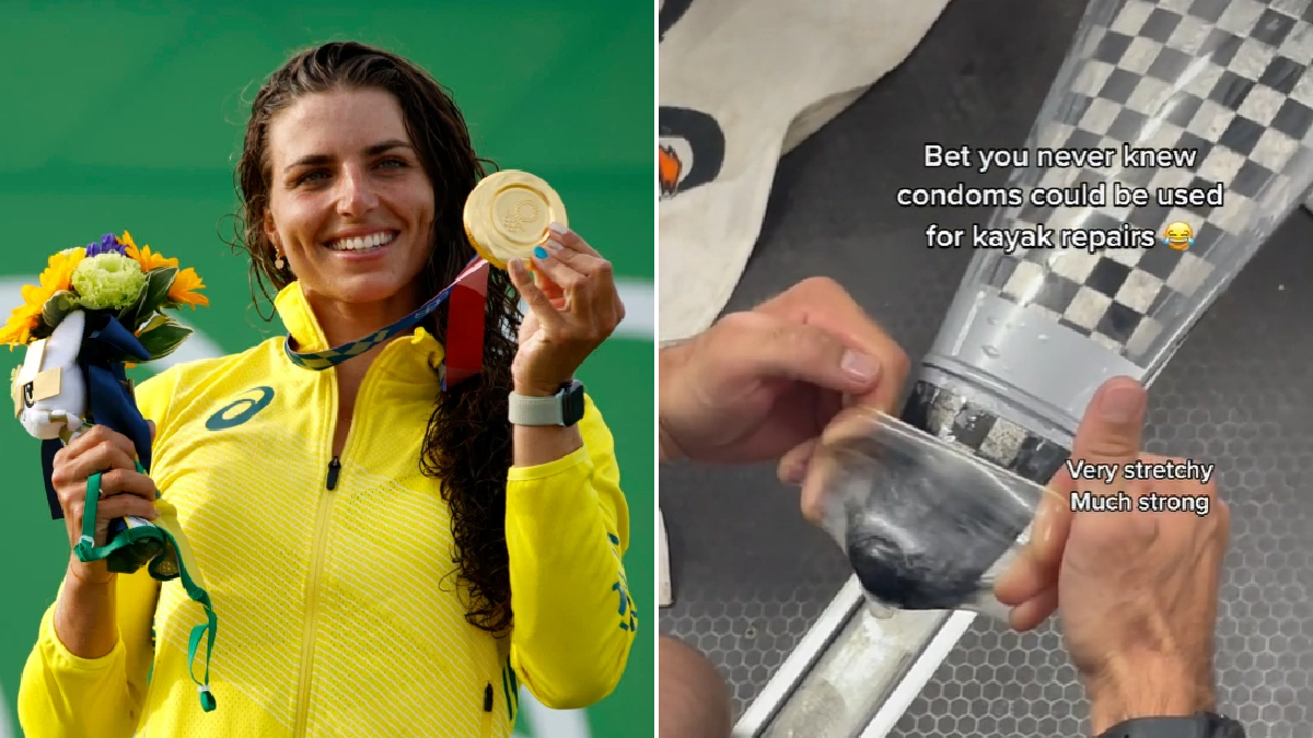
M 989 215 L 893 205 L 901 186 L 998 186 L 922 168 L 927 141 L 1020 146 L 1081 3 L 955 3 L 913 58 L 780 167 L 730 309 L 829 274 L 918 358 L 970 259 L 927 251 L 928 222 Z M 821 53 L 821 50 L 818 50 Z M 1218 640 L 1222 708 L 1251 737 L 1313 738 L 1313 217 L 1296 213 L 1191 334 L 1153 390 L 1149 449 L 1218 465 L 1234 512 Z M 660 629 L 758 695 L 848 576 L 771 467 L 663 466 L 675 607 Z M 906 735 L 1079 735 L 1086 706 L 1052 626 L 977 620 L 899 722 Z

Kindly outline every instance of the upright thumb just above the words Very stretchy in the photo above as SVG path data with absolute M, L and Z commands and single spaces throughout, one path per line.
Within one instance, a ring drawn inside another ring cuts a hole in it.
M 1130 377 L 1113 377 L 1094 394 L 1071 444 L 1073 462 L 1130 464 L 1140 458 L 1146 394 Z

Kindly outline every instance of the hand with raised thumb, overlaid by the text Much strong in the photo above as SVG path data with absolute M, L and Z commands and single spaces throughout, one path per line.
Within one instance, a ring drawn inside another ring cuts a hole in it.
M 1054 477 L 1031 544 L 995 594 L 1012 625 L 1035 628 L 1062 613 L 1098 735 L 1133 717 L 1213 709 L 1213 632 L 1230 515 L 1215 485 L 1125 479 L 1125 465 L 1182 462 L 1141 453 L 1145 391 L 1125 377 L 1100 387 L 1086 411 L 1071 464 L 1115 465 L 1117 478 Z M 1071 512 L 1071 492 L 1125 492 L 1129 512 Z M 1208 515 L 1142 512 L 1146 495 L 1203 498 Z

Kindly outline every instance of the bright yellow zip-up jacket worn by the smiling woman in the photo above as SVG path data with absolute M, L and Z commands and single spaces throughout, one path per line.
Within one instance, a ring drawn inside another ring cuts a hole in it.
M 276 307 L 301 351 L 328 348 L 299 285 Z M 520 683 L 554 708 L 607 696 L 637 620 L 628 507 L 591 399 L 584 448 L 509 470 L 515 625 L 498 640 L 463 620 L 449 511 L 419 467 L 442 347 L 416 330 L 382 351 L 331 464 L 336 373 L 293 365 L 282 343 L 137 390 L 156 424 L 151 475 L 218 616 L 218 709 L 201 710 L 188 676 L 200 605 L 142 570 L 118 576 L 119 638 L 102 658 L 71 654 L 46 611 L 18 688 L 28 738 L 504 738 Z

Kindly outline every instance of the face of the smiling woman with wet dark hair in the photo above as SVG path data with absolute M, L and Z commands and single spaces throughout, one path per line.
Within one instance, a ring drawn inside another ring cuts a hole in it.
M 260 164 L 272 181 L 263 235 L 315 313 L 332 315 L 324 320 L 332 345 L 424 302 L 420 276 L 433 253 L 435 197 L 404 119 L 390 92 L 353 88 L 306 95 L 268 126 Z M 463 169 L 442 172 L 474 179 L 469 163 Z M 444 205 L 458 211 L 461 201 Z

